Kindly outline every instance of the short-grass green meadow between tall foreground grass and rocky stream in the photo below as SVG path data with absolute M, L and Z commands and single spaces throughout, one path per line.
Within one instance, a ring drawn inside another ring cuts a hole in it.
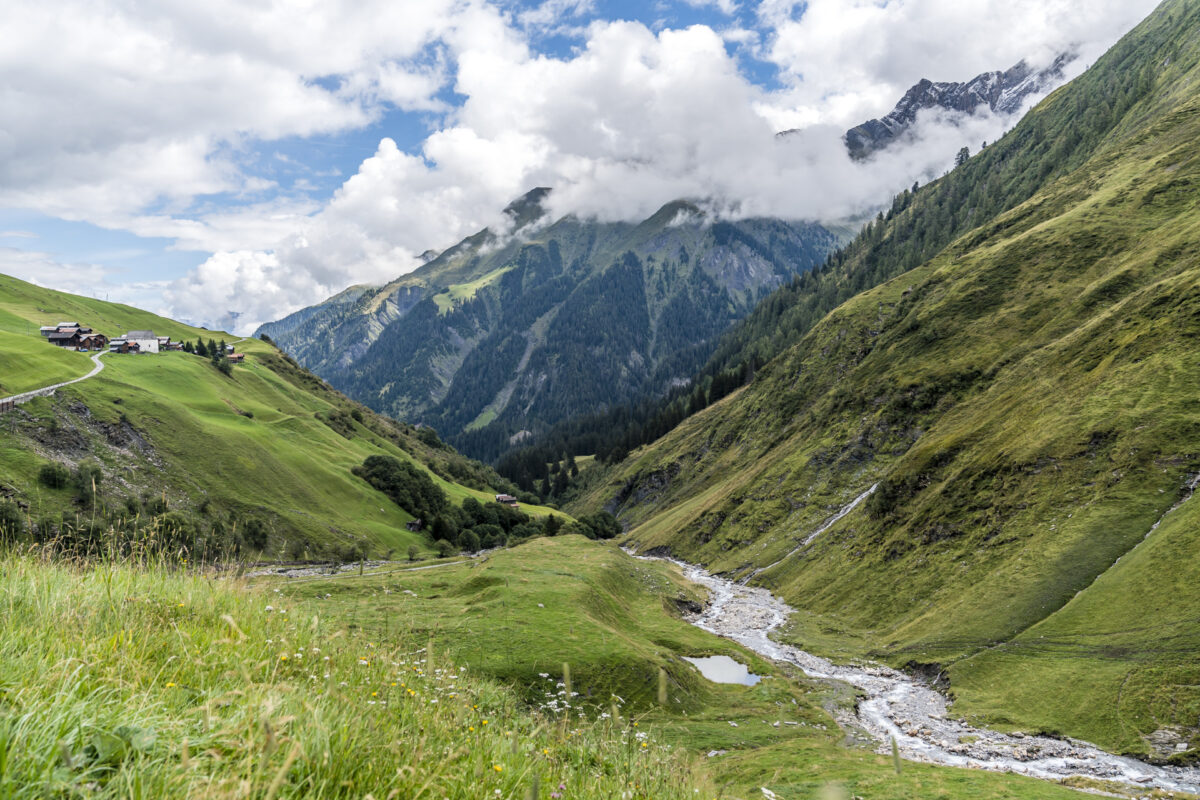
M 288 602 L 313 603 L 368 638 L 413 632 L 472 674 L 512 686 L 541 712 L 559 708 L 566 662 L 576 715 L 611 717 L 619 697 L 626 724 L 698 759 L 695 774 L 714 796 L 762 796 L 762 787 L 788 800 L 1079 796 L 1055 783 L 920 764 L 906 763 L 898 776 L 889 757 L 847 742 L 830 716 L 854 702 L 852 692 L 688 624 L 680 608 L 703 600 L 697 588 L 674 567 L 632 559 L 611 543 L 558 536 L 436 564 L 256 583 Z M 764 680 L 709 682 L 680 660 L 700 655 L 728 655 Z M 659 669 L 667 676 L 665 705 Z M 709 758 L 714 751 L 725 752 Z

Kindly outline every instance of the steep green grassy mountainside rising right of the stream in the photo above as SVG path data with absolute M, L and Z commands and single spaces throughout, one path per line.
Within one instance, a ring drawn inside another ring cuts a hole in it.
M 834 309 L 578 507 L 776 589 L 810 648 L 950 664 L 964 711 L 1200 744 L 1200 567 L 1178 558 L 1200 506 L 1150 533 L 1200 473 L 1198 31 L 1200 6 L 1164 4 L 880 221 L 858 252 L 892 241 L 902 263 L 917 221 L 1030 197 Z

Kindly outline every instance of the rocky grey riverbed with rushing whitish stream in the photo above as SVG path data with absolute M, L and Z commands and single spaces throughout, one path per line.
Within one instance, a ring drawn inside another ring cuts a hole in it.
M 1073 775 L 1116 781 L 1146 789 L 1200 794 L 1200 769 L 1156 766 L 1114 756 L 1085 741 L 974 728 L 948 714 L 947 699 L 931 686 L 880 664 L 835 664 L 770 638 L 794 613 L 766 589 L 745 587 L 680 564 L 684 576 L 706 587 L 709 603 L 694 625 L 733 639 L 768 658 L 799 667 L 805 674 L 847 682 L 865 696 L 852 721 L 889 752 L 894 738 L 911 760 L 1018 772 L 1058 780 Z M 845 721 L 842 721 L 845 722 Z

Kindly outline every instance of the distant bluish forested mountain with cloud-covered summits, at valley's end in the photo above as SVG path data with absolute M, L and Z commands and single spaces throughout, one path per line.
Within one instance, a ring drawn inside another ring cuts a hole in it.
M 836 243 L 820 225 L 714 223 L 688 203 L 637 224 L 545 224 L 545 192 L 510 206 L 512 236 L 481 231 L 262 331 L 372 408 L 491 458 L 522 432 L 685 379 L 721 331 Z

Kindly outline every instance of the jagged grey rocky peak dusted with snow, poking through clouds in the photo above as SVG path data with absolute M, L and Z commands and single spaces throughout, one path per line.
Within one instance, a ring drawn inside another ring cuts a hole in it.
M 1060 55 L 1049 67 L 1037 72 L 1021 61 L 1003 72 L 984 72 L 966 83 L 935 83 L 922 78 L 887 116 L 868 120 L 846 131 L 846 149 L 853 158 L 866 158 L 901 140 L 917 121 L 917 115 L 929 109 L 973 114 L 986 108 L 996 114 L 1015 114 L 1028 97 L 1062 83 L 1063 67 L 1073 59 L 1070 54 Z

